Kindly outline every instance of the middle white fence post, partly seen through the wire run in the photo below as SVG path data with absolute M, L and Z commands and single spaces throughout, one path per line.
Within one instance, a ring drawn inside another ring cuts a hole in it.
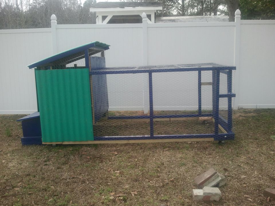
M 142 64 L 148 65 L 148 24 L 147 24 L 147 15 L 142 13 Z M 148 73 L 143 74 L 143 111 L 144 113 L 149 112 L 149 76 Z

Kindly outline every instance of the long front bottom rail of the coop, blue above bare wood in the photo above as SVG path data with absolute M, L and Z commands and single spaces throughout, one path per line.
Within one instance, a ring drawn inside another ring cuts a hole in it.
M 192 138 L 194 137 L 194 138 Z M 150 136 L 106 136 L 95 137 L 90 141 L 43 142 L 43 144 L 110 144 L 110 143 L 150 143 L 150 142 L 199 142 L 214 140 L 234 140 L 234 133 L 227 134 L 191 134 Z

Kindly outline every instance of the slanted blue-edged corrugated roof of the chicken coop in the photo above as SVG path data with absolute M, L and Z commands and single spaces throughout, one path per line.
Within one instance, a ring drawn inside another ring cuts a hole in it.
M 106 43 L 93 41 L 78 47 L 74 47 L 72 49 L 68 49 L 66 51 L 62 51 L 58 54 L 47 57 L 33 64 L 30 64 L 28 65 L 28 67 L 29 69 L 32 69 L 39 66 L 54 66 L 54 65 L 60 65 L 60 64 L 70 64 L 72 62 L 85 58 L 86 49 L 88 49 L 89 56 L 91 56 L 101 51 L 105 51 L 109 49 L 109 46 L 110 45 Z

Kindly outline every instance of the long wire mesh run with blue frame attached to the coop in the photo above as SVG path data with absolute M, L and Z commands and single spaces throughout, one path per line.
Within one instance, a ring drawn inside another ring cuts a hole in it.
M 107 94 L 101 95 L 101 100 L 107 101 L 108 107 L 95 118 L 95 139 L 233 139 L 232 103 L 228 104 L 234 97 L 232 68 L 217 67 L 202 64 L 91 70 L 93 83 L 99 76 L 106 76 L 107 82 L 103 86 Z M 93 86 L 93 96 L 103 87 Z

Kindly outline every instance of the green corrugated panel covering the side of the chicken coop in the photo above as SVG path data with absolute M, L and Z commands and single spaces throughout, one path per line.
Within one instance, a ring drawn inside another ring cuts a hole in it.
M 42 142 L 93 140 L 89 69 L 35 72 Z

